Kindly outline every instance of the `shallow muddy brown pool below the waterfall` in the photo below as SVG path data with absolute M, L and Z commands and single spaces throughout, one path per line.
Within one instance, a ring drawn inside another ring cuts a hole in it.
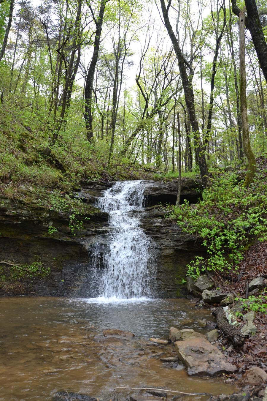
M 159 358 L 175 356 L 175 348 L 149 341 L 149 337 L 167 338 L 170 326 L 205 332 L 199 320 L 211 320 L 211 312 L 182 299 L 101 304 L 66 298 L 2 298 L 0 400 L 50 400 L 56 391 L 108 400 L 114 399 L 118 392 L 114 389 L 120 386 L 233 393 L 235 388 L 222 379 L 189 377 L 183 366 L 175 369 L 162 363 Z M 130 330 L 136 337 L 94 339 L 106 328 Z

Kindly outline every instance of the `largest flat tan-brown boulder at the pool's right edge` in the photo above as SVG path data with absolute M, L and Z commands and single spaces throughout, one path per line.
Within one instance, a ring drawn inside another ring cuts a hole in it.
M 192 333 L 184 341 L 175 342 L 175 346 L 190 376 L 216 376 L 237 371 L 237 367 L 227 362 L 221 351 L 203 334 Z

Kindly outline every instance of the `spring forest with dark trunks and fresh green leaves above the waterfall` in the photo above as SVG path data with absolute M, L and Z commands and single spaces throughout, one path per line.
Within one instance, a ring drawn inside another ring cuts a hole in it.
M 204 185 L 214 166 L 248 157 L 255 170 L 266 149 L 266 4 L 245 3 L 240 73 L 235 1 L 2 0 L 4 190 L 140 165 L 198 172 Z

